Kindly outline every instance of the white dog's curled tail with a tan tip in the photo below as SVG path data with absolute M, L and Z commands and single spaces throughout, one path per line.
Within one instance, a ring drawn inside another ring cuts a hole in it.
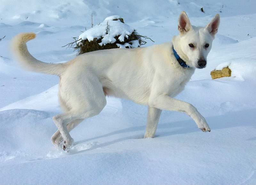
M 12 39 L 11 49 L 15 59 L 28 71 L 60 76 L 65 69 L 65 64 L 45 63 L 28 52 L 26 42 L 35 38 L 35 33 L 20 33 Z

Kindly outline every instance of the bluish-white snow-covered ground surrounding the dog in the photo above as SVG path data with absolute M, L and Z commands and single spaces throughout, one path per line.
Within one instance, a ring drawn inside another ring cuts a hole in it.
M 255 0 L 1 2 L 0 184 L 256 184 L 255 7 Z M 57 150 L 50 137 L 56 131 L 51 117 L 60 112 L 58 77 L 20 69 L 10 39 L 35 32 L 29 51 L 45 62 L 65 62 L 76 52 L 61 46 L 91 27 L 91 13 L 94 25 L 120 15 L 158 44 L 178 34 L 183 10 L 198 26 L 221 17 L 207 67 L 177 96 L 195 105 L 212 131 L 201 132 L 183 113 L 163 111 L 156 137 L 142 139 L 147 107 L 108 98 L 100 115 L 71 131 L 70 152 Z M 211 80 L 211 70 L 227 65 L 231 77 Z

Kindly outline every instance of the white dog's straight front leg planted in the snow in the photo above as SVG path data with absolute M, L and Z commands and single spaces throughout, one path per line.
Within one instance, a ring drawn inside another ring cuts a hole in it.
M 153 138 L 162 110 L 148 106 L 148 120 L 144 138 Z

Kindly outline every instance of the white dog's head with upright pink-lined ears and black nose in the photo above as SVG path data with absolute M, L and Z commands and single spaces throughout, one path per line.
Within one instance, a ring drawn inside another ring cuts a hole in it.
M 205 27 L 190 24 L 187 14 L 182 11 L 178 22 L 180 32 L 180 49 L 188 60 L 188 65 L 194 68 L 205 68 L 207 55 L 212 48 L 212 41 L 218 32 L 220 15 L 216 14 Z

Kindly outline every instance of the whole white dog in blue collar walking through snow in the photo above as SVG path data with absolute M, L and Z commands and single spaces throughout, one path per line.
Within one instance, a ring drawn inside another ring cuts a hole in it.
M 219 24 L 217 14 L 206 27 L 192 26 L 183 11 L 178 21 L 180 34 L 172 42 L 84 53 L 67 63 L 50 64 L 35 59 L 26 46 L 36 37 L 35 33 L 14 37 L 12 50 L 27 70 L 60 77 L 59 101 L 65 113 L 53 117 L 59 130 L 51 139 L 64 150 L 73 143 L 69 131 L 85 118 L 99 114 L 107 103 L 105 96 L 148 105 L 145 138 L 154 136 L 162 110 L 185 112 L 199 129 L 210 132 L 193 105 L 173 97 L 184 89 L 195 68 L 206 66 Z

